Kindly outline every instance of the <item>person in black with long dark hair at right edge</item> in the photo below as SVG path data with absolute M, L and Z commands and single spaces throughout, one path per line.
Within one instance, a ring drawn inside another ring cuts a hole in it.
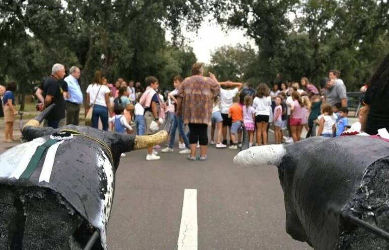
M 383 128 L 389 131 L 389 54 L 371 77 L 364 103 L 362 130 L 369 135 Z

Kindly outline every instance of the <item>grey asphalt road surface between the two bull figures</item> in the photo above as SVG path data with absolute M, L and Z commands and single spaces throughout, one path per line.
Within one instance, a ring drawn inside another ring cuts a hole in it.
M 210 147 L 206 161 L 146 151 L 121 158 L 109 249 L 177 249 L 185 189 L 197 189 L 198 249 L 312 249 L 285 232 L 275 166 L 232 164 L 237 150 Z

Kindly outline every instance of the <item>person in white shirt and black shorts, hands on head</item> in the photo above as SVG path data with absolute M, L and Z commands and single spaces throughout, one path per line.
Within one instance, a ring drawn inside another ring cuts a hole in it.
M 239 91 L 242 89 L 243 84 L 241 82 L 219 82 L 221 87 L 225 89 L 220 89 L 220 112 L 223 117 L 223 142 L 222 144 L 227 145 L 227 128 L 229 128 L 229 141 L 231 142 L 231 125 L 232 118 L 228 118 L 228 109 L 232 106 L 232 99 L 238 95 Z M 240 139 L 240 138 L 239 138 Z M 238 139 L 238 140 L 239 140 Z

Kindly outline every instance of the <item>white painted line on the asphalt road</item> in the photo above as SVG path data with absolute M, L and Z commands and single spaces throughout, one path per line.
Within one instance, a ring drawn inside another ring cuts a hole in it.
M 197 189 L 185 189 L 178 250 L 197 250 Z

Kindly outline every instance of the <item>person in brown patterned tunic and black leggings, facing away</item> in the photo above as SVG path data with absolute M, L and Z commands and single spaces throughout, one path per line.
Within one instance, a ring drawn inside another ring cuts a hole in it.
M 177 96 L 177 115 L 181 115 L 189 127 L 190 160 L 196 159 L 198 142 L 201 151 L 199 159 L 207 159 L 207 129 L 211 125 L 213 97 L 220 93 L 215 76 L 204 77 L 203 74 L 204 64 L 193 64 L 192 76 L 182 82 Z

